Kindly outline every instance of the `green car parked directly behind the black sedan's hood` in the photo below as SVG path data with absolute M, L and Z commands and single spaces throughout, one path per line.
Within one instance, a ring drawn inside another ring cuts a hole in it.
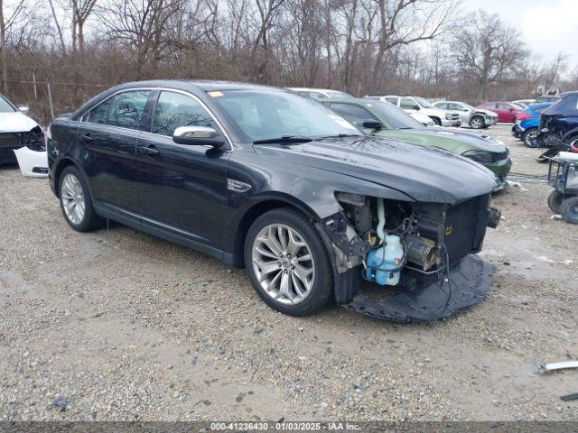
M 506 188 L 512 160 L 506 145 L 489 135 L 457 128 L 424 126 L 402 109 L 375 99 L 350 98 L 320 101 L 355 124 L 365 134 L 405 140 L 457 153 L 493 171 L 500 181 L 496 190 Z

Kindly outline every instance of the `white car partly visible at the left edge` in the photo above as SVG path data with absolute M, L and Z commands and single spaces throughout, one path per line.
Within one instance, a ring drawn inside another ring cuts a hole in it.
M 24 176 L 48 176 L 44 132 L 39 124 L 0 95 L 0 165 L 18 162 Z

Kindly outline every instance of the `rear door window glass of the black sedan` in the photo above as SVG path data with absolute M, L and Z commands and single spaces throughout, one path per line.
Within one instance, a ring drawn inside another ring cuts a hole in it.
M 89 114 L 84 116 L 84 121 L 128 129 L 143 129 L 144 106 L 150 94 L 150 90 L 135 90 L 109 97 L 90 110 Z

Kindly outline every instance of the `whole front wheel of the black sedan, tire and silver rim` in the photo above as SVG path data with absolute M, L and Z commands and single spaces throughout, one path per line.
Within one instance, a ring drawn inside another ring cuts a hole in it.
M 329 254 L 312 223 L 289 207 L 258 217 L 245 240 L 245 267 L 266 304 L 290 316 L 306 316 L 333 296 Z

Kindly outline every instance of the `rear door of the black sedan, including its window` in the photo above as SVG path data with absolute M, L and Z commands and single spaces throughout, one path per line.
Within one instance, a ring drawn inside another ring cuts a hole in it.
M 126 90 L 82 116 L 79 161 L 97 207 L 134 217 L 138 205 L 136 143 L 144 129 L 150 90 Z

